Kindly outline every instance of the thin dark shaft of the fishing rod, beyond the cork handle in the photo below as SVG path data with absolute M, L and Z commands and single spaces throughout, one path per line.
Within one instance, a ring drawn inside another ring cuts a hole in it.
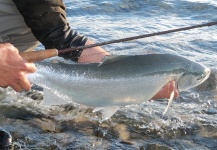
M 132 37 L 122 38 L 122 39 L 117 39 L 117 40 L 111 40 L 111 41 L 102 42 L 102 43 L 96 43 L 96 44 L 90 44 L 90 45 L 85 45 L 85 46 L 67 48 L 67 49 L 58 50 L 58 55 L 63 54 L 63 53 L 67 53 L 67 52 L 71 52 L 71 51 L 79 51 L 79 50 L 83 50 L 86 48 L 92 48 L 92 47 L 103 46 L 103 45 L 114 44 L 114 43 L 121 43 L 121 42 L 141 39 L 141 38 L 153 37 L 153 36 L 164 35 L 164 34 L 168 34 L 168 33 L 186 31 L 186 30 L 190 30 L 190 29 L 202 28 L 202 27 L 214 26 L 214 25 L 217 25 L 217 22 L 208 22 L 208 23 L 204 23 L 204 24 L 193 25 L 193 26 L 188 26 L 188 27 L 183 27 L 183 28 L 177 28 L 177 29 L 166 30 L 166 31 L 161 31 L 161 32 L 156 32 L 156 33 L 150 33 L 150 34 L 132 36 Z

